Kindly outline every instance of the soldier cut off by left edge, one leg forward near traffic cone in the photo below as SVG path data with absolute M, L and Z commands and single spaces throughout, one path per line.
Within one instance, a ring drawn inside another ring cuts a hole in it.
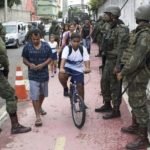
M 5 43 L 0 37 L 0 96 L 6 100 L 6 110 L 11 120 L 11 133 L 25 133 L 31 131 L 30 127 L 19 124 L 17 117 L 17 100 L 15 91 L 8 83 L 9 62 L 6 54 Z

